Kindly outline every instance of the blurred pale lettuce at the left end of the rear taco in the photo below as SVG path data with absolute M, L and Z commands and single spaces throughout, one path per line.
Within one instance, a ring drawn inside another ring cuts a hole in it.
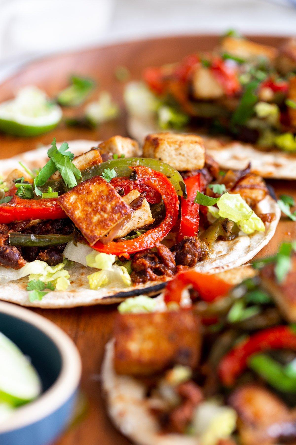
M 130 82 L 126 85 L 123 98 L 126 108 L 133 116 L 154 116 L 161 105 L 161 101 L 142 82 Z

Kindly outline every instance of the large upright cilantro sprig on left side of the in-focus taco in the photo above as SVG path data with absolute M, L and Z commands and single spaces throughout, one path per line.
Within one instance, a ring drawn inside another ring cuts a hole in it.
M 38 196 L 42 196 L 41 190 L 38 187 L 43 186 L 47 179 L 55 173 L 56 170 L 61 174 L 63 181 L 69 188 L 77 186 L 77 180 L 81 178 L 80 170 L 71 162 L 74 158 L 74 154 L 71 151 L 67 151 L 69 145 L 67 142 L 63 142 L 59 150 L 56 146 L 55 138 L 51 142 L 51 148 L 47 151 L 49 161 L 39 171 L 39 174 L 34 179 L 35 193 Z

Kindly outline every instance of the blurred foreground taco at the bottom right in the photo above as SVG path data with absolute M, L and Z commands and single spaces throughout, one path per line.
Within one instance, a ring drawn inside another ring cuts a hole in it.
M 295 442 L 296 316 L 285 291 L 295 290 L 296 255 L 286 247 L 259 275 L 250 266 L 185 271 L 164 294 L 118 306 L 102 388 L 111 420 L 132 443 Z M 282 255 L 291 267 L 280 276 Z M 289 301 L 293 316 L 282 310 Z

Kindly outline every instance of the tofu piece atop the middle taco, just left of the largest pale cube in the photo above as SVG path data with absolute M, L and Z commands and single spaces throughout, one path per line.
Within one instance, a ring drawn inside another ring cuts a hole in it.
M 101 154 L 118 154 L 118 156 L 124 154 L 125 158 L 134 158 L 141 155 L 138 142 L 122 136 L 113 136 L 107 141 L 101 142 L 99 151 Z

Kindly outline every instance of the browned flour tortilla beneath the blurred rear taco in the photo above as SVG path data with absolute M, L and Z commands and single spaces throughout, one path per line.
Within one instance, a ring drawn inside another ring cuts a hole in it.
M 142 143 L 149 133 L 162 131 L 151 119 L 129 116 L 127 128 L 130 137 Z M 167 131 L 167 130 L 166 130 Z M 251 162 L 251 170 L 263 178 L 296 179 L 296 154 L 280 150 L 260 150 L 239 141 L 223 142 L 201 135 L 205 148 L 222 169 L 243 170 Z

